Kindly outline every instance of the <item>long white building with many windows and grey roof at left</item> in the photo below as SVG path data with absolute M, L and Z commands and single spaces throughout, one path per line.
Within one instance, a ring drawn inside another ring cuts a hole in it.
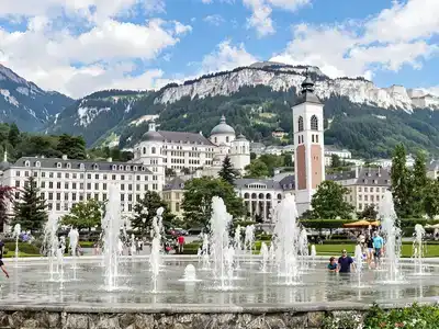
M 4 156 L 7 158 L 7 156 Z M 94 198 L 105 201 L 109 185 L 119 184 L 122 215 L 132 214 L 135 203 L 145 192 L 161 192 L 158 175 L 143 163 L 70 160 L 63 158 L 23 157 L 14 163 L 3 159 L 0 163 L 1 184 L 18 189 L 20 193 L 30 177 L 34 177 L 48 211 L 58 216 L 67 214 L 74 204 Z M 11 211 L 12 208 L 10 208 Z M 128 223 L 127 223 L 128 224 Z

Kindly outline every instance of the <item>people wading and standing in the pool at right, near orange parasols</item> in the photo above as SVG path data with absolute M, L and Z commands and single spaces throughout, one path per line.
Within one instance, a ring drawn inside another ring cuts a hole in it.
M 367 259 L 369 269 L 379 268 L 381 257 L 384 252 L 384 239 L 378 231 L 373 235 L 364 236 L 362 232 L 358 237 L 358 245 L 361 247 L 362 256 Z M 329 272 L 350 273 L 356 269 L 353 259 L 348 254 L 346 249 L 341 250 L 341 256 L 336 261 L 335 257 L 329 259 L 327 265 Z

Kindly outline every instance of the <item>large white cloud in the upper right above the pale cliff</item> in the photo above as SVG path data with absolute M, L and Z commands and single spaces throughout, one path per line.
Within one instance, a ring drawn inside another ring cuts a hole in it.
M 438 4 L 436 0 L 394 2 L 391 9 L 367 19 L 364 29 L 352 21 L 295 25 L 293 41 L 271 60 L 315 65 L 330 77 L 368 79 L 376 70 L 397 71 L 404 65 L 420 68 L 425 59 L 439 52 L 438 45 L 429 39 L 439 32 L 439 16 L 430 13 Z M 421 22 L 423 16 L 427 22 Z

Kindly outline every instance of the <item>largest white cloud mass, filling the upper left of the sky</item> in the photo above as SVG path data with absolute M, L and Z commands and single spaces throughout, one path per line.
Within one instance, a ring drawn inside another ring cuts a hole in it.
M 143 67 L 192 30 L 177 21 L 135 24 L 117 19 L 138 8 L 161 11 L 162 0 L 41 0 L 38 5 L 33 1 L 2 0 L 0 16 L 26 20 L 27 30 L 0 27 L 0 61 L 44 89 L 75 98 L 103 88 L 150 89 L 166 83 L 161 70 Z M 59 26 L 60 13 L 75 23 Z

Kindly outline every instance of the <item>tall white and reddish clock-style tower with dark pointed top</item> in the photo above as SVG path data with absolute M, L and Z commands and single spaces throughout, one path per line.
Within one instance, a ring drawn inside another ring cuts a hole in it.
M 325 180 L 323 103 L 314 93 L 314 82 L 306 77 L 293 106 L 295 201 L 299 215 L 311 209 L 311 200 Z

